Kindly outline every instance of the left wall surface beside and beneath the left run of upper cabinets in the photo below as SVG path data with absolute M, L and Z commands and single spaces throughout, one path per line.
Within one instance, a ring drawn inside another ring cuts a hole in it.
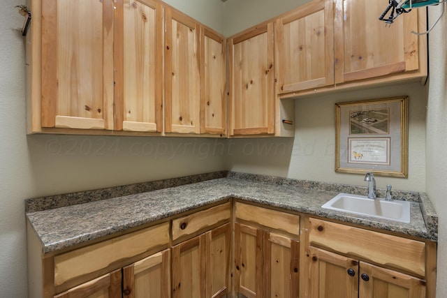
M 3 4 L 0 10 L 0 297 L 22 298 L 27 297 L 25 199 L 225 170 L 226 158 L 224 140 L 27 136 L 24 38 L 20 33 L 24 18 L 14 8 L 24 4 L 24 0 Z M 219 20 L 221 14 L 217 9 L 210 9 L 207 17 Z M 219 27 L 218 22 L 215 26 Z

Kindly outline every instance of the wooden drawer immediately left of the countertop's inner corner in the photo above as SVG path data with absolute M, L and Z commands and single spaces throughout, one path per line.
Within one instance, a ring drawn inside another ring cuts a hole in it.
M 191 235 L 217 223 L 230 221 L 230 202 L 198 211 L 173 220 L 173 241 L 179 237 Z

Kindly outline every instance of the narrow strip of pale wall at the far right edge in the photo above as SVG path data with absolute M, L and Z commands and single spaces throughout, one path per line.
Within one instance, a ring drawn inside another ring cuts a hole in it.
M 442 6 L 430 7 L 430 24 Z M 427 110 L 427 195 L 439 216 L 437 297 L 447 297 L 447 15 L 429 34 L 430 88 Z

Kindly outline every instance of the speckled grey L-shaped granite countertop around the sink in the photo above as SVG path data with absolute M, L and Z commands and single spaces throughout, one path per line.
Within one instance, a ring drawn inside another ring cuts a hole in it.
M 187 184 L 188 181 L 193 183 Z M 393 191 L 395 199 L 412 202 L 411 223 L 407 224 L 353 216 L 321 208 L 322 204 L 328 202 L 337 193 L 365 193 L 365 188 L 360 186 L 324 184 L 233 172 L 229 174 L 221 172 L 200 179 L 194 176 L 191 179 L 184 179 L 183 182 L 178 186 L 175 179 L 170 179 L 170 184 L 160 185 L 160 181 L 148 183 L 150 185 L 158 183 L 155 188 L 161 189 L 142 193 L 138 193 L 138 190 L 147 190 L 147 187 L 142 188 L 143 184 L 138 184 L 129 188 L 132 191 L 122 191 L 122 188 L 113 188 L 111 191 L 109 188 L 94 191 L 94 193 L 83 192 L 29 199 L 25 202 L 26 215 L 42 241 L 43 253 L 52 253 L 116 232 L 123 232 L 228 198 L 257 202 L 285 210 L 437 241 L 437 214 L 430 200 L 423 193 Z M 104 191 L 107 191 L 108 196 L 113 197 L 117 189 L 120 191 L 120 196 L 116 198 L 101 196 Z M 126 192 L 132 194 L 123 195 Z M 378 192 L 381 195 L 381 190 Z M 101 199 L 92 200 L 92 194 Z M 59 206 L 62 198 L 67 197 L 75 203 L 71 204 L 69 200 L 65 200 L 66 206 Z M 82 203 L 83 201 L 85 202 Z M 49 209 L 54 205 L 56 208 Z

